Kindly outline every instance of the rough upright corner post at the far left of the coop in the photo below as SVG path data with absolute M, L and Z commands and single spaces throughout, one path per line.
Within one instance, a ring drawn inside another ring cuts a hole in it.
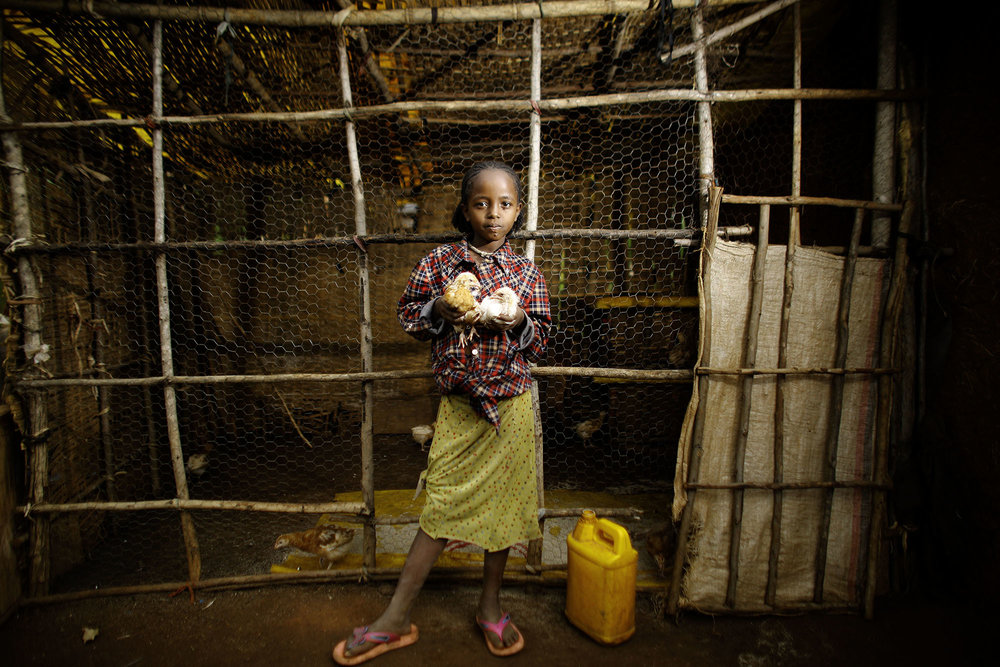
M 2 22 L 0 22 L 2 23 Z M 0 34 L 0 53 L 3 39 Z M 3 95 L 2 67 L 0 67 L 0 118 L 8 121 L 7 106 Z M 10 179 L 10 217 L 15 239 L 34 240 L 31 228 L 31 210 L 28 204 L 28 178 L 24 166 L 21 140 L 14 132 L 3 133 L 4 157 Z M 20 278 L 20 298 L 25 302 L 21 311 L 24 331 L 24 356 L 27 361 L 25 379 L 40 377 L 41 370 L 34 363 L 35 355 L 44 351 L 42 339 L 42 302 L 38 292 L 39 276 L 29 255 L 18 255 L 17 273 Z M 28 493 L 32 503 L 45 502 L 49 481 L 49 446 L 45 442 L 49 429 L 48 410 L 39 392 L 25 394 L 25 445 L 30 452 Z M 47 514 L 32 516 L 30 528 L 28 594 L 32 597 L 49 592 L 49 518 Z

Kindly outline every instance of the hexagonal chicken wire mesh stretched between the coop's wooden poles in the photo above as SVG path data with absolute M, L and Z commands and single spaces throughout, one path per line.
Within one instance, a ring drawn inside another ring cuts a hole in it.
M 751 9 L 710 8 L 707 29 Z M 713 87 L 788 87 L 789 16 L 779 12 L 710 50 Z M 151 24 L 30 12 L 6 18 L 3 83 L 16 120 L 150 115 Z M 658 5 L 544 19 L 543 98 L 692 88 L 690 55 L 670 57 L 671 42 L 690 41 L 690 18 L 688 10 Z M 366 245 L 351 239 L 355 199 L 343 119 L 213 118 L 342 108 L 336 30 L 164 22 L 164 115 L 201 120 L 21 134 L 32 233 L 47 244 L 31 253 L 44 276 L 42 338 L 49 346 L 35 366 L 47 378 L 160 377 L 158 299 L 165 295 L 175 375 L 361 371 L 359 281 L 367 271 L 371 370 L 426 370 L 426 346 L 396 320 L 402 287 L 437 243 L 424 237 L 454 231 L 457 186 L 469 165 L 501 159 L 527 176 L 531 115 L 513 105 L 420 105 L 530 99 L 531 32 L 524 20 L 347 30 L 354 104 L 414 104 L 350 118 L 366 232 L 392 237 Z M 826 165 L 815 187 L 828 189 L 829 174 L 848 174 L 833 194 L 862 197 L 867 181 L 850 177 L 868 158 L 836 141 L 837 124 L 847 122 L 837 105 L 854 105 L 852 123 L 872 115 L 870 105 L 856 102 L 818 103 L 815 112 L 809 105 L 807 127 L 825 128 L 815 144 L 806 143 Z M 717 181 L 732 192 L 787 193 L 791 102 L 716 105 L 713 114 Z M 540 229 L 700 226 L 694 102 L 567 105 L 538 120 Z M 172 244 L 164 250 L 165 292 L 158 292 L 157 251 L 144 245 L 154 240 L 149 147 L 157 130 Z M 810 187 L 811 178 L 807 172 Z M 6 182 L 3 188 L 9 224 Z M 523 240 L 514 245 L 525 247 Z M 535 261 L 553 312 L 541 365 L 690 369 L 698 313 L 696 301 L 685 298 L 697 294 L 696 250 L 641 236 L 538 240 Z M 15 277 L 7 275 L 10 295 L 19 293 Z M 14 370 L 23 372 L 18 363 Z M 688 382 L 557 374 L 540 377 L 538 386 L 547 489 L 669 493 Z M 160 384 L 42 391 L 50 406 L 48 502 L 175 496 Z M 409 429 L 433 420 L 433 382 L 389 378 L 373 391 L 375 489 L 411 489 L 425 454 Z M 328 502 L 360 488 L 356 382 L 194 380 L 176 387 L 176 402 L 192 498 Z M 25 488 L 30 470 L 29 460 Z M 256 512 L 192 517 L 204 577 L 267 571 L 274 536 L 315 521 Z M 57 514 L 52 531 L 53 572 L 67 573 L 57 589 L 188 578 L 174 511 Z

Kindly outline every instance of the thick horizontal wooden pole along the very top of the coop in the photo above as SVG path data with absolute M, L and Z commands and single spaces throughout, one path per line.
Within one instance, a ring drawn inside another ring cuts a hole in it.
M 750 4 L 758 0 L 712 0 L 712 6 Z M 693 7 L 698 0 L 673 0 L 674 7 Z M 134 18 L 145 21 L 162 19 L 243 25 L 273 25 L 288 28 L 419 25 L 433 23 L 471 23 L 604 16 L 645 12 L 648 0 L 545 0 L 481 7 L 416 7 L 378 10 L 269 10 L 226 7 L 183 7 L 154 4 L 112 4 L 89 0 L 0 0 L 0 8 L 58 12 L 63 14 L 100 15 L 110 18 Z

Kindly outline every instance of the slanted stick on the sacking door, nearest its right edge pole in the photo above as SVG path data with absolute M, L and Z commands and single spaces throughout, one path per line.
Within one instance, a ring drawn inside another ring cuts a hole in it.
M 858 209 L 854 214 L 854 226 L 851 229 L 851 241 L 844 260 L 844 273 L 840 281 L 840 302 L 837 306 L 836 352 L 834 364 L 843 367 L 847 363 L 847 350 L 850 343 L 851 317 L 851 287 L 854 285 L 854 269 L 858 259 L 858 246 L 861 245 L 861 225 L 864 222 L 864 209 Z M 837 479 L 837 450 L 840 442 L 840 422 L 844 411 L 844 376 L 833 376 L 833 387 L 830 392 L 829 418 L 826 431 L 826 456 L 823 466 L 824 481 Z M 816 565 L 813 580 L 813 602 L 823 602 L 823 587 L 826 580 L 826 556 L 830 542 L 830 514 L 833 510 L 833 489 L 823 495 L 823 515 L 819 525 L 819 542 L 816 547 Z

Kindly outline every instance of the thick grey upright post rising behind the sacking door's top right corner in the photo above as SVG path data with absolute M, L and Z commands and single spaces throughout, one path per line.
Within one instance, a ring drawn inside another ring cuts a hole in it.
M 896 29 L 899 24 L 896 0 L 879 4 L 878 78 L 881 90 L 896 88 Z M 872 155 L 872 199 L 890 203 L 896 196 L 896 103 L 875 104 L 875 147 Z M 872 216 L 872 246 L 889 245 L 891 222 L 888 215 Z

